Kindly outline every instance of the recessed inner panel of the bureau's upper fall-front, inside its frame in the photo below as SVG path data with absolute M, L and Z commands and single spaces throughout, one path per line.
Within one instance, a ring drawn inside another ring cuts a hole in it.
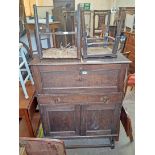
M 99 70 L 80 72 L 48 72 L 43 73 L 42 82 L 44 88 L 54 87 L 94 87 L 94 86 L 115 86 L 117 85 L 118 70 Z

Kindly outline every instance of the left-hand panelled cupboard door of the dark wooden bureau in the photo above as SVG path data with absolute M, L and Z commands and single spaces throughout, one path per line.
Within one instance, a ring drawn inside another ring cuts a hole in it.
M 80 105 L 40 105 L 45 136 L 79 135 Z

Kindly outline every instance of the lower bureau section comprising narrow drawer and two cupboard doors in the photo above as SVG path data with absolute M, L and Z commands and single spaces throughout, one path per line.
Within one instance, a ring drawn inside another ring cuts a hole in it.
M 70 103 L 53 102 L 55 98 L 58 98 L 57 96 L 54 96 L 54 99 L 52 95 L 45 96 L 46 100 L 50 100 L 46 101 L 48 104 L 44 103 L 44 95 L 38 97 L 45 136 L 53 138 L 118 136 L 122 93 L 113 93 L 108 97 L 106 94 L 96 95 L 98 97 L 95 100 L 98 102 L 94 102 L 91 95 L 81 95 L 82 100 L 87 99 L 89 102 L 74 104 L 70 99 L 75 95 L 68 97 Z M 64 97 L 60 99 L 65 100 Z

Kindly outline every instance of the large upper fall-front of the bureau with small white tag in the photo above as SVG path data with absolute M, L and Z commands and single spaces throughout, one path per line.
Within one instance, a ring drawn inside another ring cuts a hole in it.
M 42 88 L 117 88 L 121 65 L 40 66 Z

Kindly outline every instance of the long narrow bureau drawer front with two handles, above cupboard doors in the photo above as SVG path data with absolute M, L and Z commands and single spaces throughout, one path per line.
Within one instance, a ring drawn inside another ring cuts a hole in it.
M 122 92 L 114 92 L 110 94 L 61 94 L 61 95 L 50 95 L 50 94 L 39 94 L 39 104 L 91 104 L 91 103 L 103 103 L 103 104 L 114 104 L 122 102 Z

